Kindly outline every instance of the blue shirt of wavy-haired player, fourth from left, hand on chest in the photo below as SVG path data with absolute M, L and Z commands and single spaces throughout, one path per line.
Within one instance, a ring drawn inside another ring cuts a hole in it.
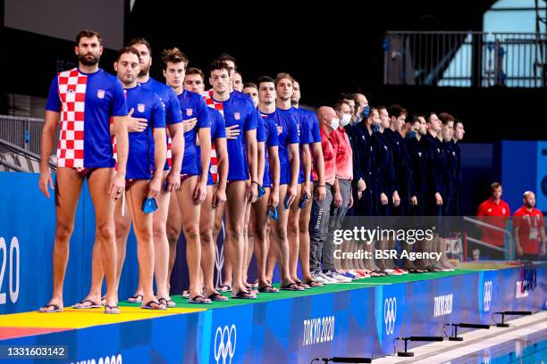
M 199 175 L 201 164 L 201 156 L 198 154 L 196 145 L 196 136 L 198 128 L 211 128 L 209 120 L 209 112 L 207 105 L 201 95 L 188 90 L 183 90 L 181 95 L 178 95 L 179 103 L 181 104 L 182 119 L 189 120 L 198 118 L 196 127 L 184 133 L 184 157 L 182 160 L 181 174 L 189 174 L 190 176 Z

